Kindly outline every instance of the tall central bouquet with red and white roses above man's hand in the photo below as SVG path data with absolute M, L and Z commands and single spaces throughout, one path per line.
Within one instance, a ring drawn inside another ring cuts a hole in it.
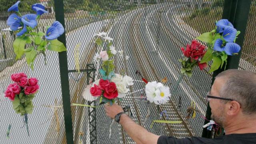
M 100 54 L 94 56 L 94 62 L 102 60 L 102 69 L 99 70 L 102 75 L 101 79 L 96 80 L 88 85 L 84 90 L 83 97 L 86 100 L 96 100 L 100 98 L 100 103 L 115 103 L 115 99 L 122 100 L 126 93 L 129 91 L 128 86 L 133 85 L 131 77 L 114 73 L 114 59 L 112 58 L 117 54 L 114 46 L 112 45 L 112 38 L 106 36 L 105 32 L 96 34 L 96 44 L 103 47 L 105 50 Z M 122 51 L 118 52 L 120 56 L 124 56 Z M 127 57 L 127 56 L 126 56 Z M 127 60 L 127 58 L 126 58 Z M 94 97 L 94 98 L 92 98 Z

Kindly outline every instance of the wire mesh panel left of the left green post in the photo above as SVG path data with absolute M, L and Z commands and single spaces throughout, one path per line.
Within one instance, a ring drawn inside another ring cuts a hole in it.
M 1 3 L 6 7 L 12 6 L 15 1 Z M 20 11 L 22 14 L 28 12 L 23 11 L 25 4 L 28 4 L 29 9 L 31 5 L 39 2 L 35 0 L 33 3 L 31 0 L 22 0 L 20 4 Z M 1 6 L 3 6 L 1 4 Z M 48 2 L 49 6 L 53 3 Z M 2 7 L 1 7 L 2 8 Z M 62 106 L 62 92 L 60 84 L 60 69 L 59 69 L 59 58 L 57 52 L 46 53 L 47 64 L 44 64 L 44 56 L 38 55 L 35 64 L 34 71 L 26 64 L 25 58 L 15 62 L 15 54 L 13 52 L 12 43 L 15 39 L 12 32 L 10 32 L 9 26 L 6 25 L 6 20 L 11 14 L 7 13 L 7 9 L 0 11 L 1 24 L 0 24 L 0 88 L 3 90 L 12 83 L 10 79 L 11 74 L 17 72 L 24 72 L 28 77 L 38 78 L 38 84 L 40 85 L 39 92 L 33 100 L 34 110 L 32 114 L 28 114 L 28 128 L 30 136 L 27 135 L 26 126 L 24 126 L 23 117 L 16 114 L 12 109 L 12 102 L 7 98 L 0 100 L 0 143 L 1 144 L 59 144 L 65 138 L 65 127 L 64 127 L 64 115 L 63 108 L 54 108 L 49 106 Z M 51 7 L 50 7 L 51 8 Z M 54 14 L 46 14 L 40 19 L 38 30 L 45 32 L 44 26 L 51 25 L 54 22 Z M 5 57 L 6 56 L 6 57 Z M 1 90 L 1 94 L 2 94 Z M 60 130 L 56 129 L 56 115 L 60 122 Z M 8 125 L 11 124 L 10 138 L 6 138 L 6 131 Z

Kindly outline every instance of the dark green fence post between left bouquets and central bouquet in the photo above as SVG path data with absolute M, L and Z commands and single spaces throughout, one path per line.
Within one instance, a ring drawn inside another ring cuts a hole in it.
M 55 7 L 56 20 L 58 20 L 65 28 L 63 0 L 54 0 L 54 7 Z M 65 32 L 60 37 L 58 37 L 58 40 L 66 46 Z M 58 54 L 59 54 L 59 63 L 60 63 L 60 80 L 61 80 L 66 140 L 67 140 L 67 144 L 74 144 L 71 105 L 70 105 L 69 81 L 68 81 L 67 52 L 59 52 Z

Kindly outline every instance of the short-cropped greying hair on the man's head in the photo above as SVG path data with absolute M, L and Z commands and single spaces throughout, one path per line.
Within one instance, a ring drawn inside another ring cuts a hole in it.
M 216 76 L 225 83 L 220 96 L 240 103 L 242 112 L 256 115 L 256 74 L 246 70 L 225 70 Z

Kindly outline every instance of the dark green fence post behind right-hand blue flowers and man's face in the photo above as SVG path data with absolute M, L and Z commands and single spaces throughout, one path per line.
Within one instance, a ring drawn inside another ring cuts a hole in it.
M 250 12 L 250 5 L 251 5 L 251 0 L 225 0 L 224 1 L 222 18 L 228 19 L 233 24 L 234 28 L 236 28 L 237 30 L 240 30 L 241 32 L 238 38 L 236 39 L 236 43 L 241 46 L 241 50 L 238 53 L 238 55 L 228 56 L 228 63 L 226 66 L 226 70 L 237 69 L 239 66 L 242 46 L 244 43 L 244 36 L 246 32 L 246 25 L 248 21 L 249 12 Z M 215 76 L 217 76 L 222 71 L 224 71 L 223 68 L 218 69 L 213 73 L 212 84 L 215 80 Z M 208 104 L 205 117 L 208 120 L 210 120 L 210 116 L 211 116 L 211 108 Z M 204 124 L 207 124 L 207 123 L 208 121 L 205 120 Z M 208 131 L 207 128 L 204 128 L 202 137 L 211 138 L 211 131 Z

